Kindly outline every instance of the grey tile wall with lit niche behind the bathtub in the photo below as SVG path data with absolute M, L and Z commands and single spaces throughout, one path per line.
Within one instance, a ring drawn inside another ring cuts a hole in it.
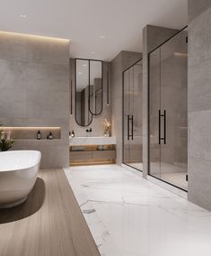
M 69 41 L 0 32 L 0 123 L 59 126 L 61 140 L 22 140 L 40 150 L 41 167 L 69 165 Z

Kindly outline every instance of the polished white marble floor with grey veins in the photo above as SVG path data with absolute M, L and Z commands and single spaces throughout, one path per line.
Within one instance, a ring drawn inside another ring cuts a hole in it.
M 65 171 L 101 255 L 211 255 L 206 210 L 117 165 Z

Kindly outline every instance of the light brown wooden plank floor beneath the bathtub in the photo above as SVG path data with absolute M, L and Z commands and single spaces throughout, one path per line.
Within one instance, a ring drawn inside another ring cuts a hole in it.
M 1 256 L 99 256 L 63 169 L 42 169 L 22 206 L 0 209 Z

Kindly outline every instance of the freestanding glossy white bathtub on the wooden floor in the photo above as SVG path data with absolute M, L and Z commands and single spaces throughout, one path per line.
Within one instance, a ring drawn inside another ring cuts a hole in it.
M 0 152 L 0 208 L 22 204 L 40 169 L 40 151 Z

